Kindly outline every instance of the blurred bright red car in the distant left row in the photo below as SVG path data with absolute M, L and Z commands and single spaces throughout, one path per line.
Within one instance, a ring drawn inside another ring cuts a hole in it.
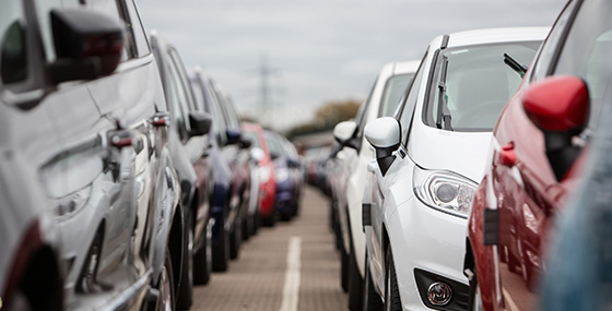
M 274 198 L 276 196 L 276 180 L 274 171 L 274 163 L 270 156 L 268 142 L 261 125 L 257 123 L 243 123 L 244 134 L 252 142 L 251 157 L 257 160 L 255 177 L 259 182 L 259 190 L 251 191 L 251 199 L 257 202 L 255 215 L 256 228 L 260 222 L 269 225 L 274 224 Z M 259 151 L 257 151 L 259 149 Z M 259 153 L 259 155 L 257 155 Z M 250 206 L 249 206 L 250 210 Z

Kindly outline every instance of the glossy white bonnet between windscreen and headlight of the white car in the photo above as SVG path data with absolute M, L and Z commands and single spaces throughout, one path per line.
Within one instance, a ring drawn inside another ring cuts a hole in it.
M 451 170 L 480 183 L 492 135 L 423 127 L 411 133 L 408 154 L 423 168 Z

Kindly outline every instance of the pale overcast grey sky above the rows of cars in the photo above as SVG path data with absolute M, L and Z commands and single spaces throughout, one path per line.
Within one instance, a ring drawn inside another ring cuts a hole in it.
M 325 103 L 364 100 L 385 63 L 421 59 L 438 35 L 551 26 L 565 2 L 137 0 L 137 7 L 145 29 L 173 43 L 188 69 L 211 75 L 240 115 L 285 131 L 313 120 Z

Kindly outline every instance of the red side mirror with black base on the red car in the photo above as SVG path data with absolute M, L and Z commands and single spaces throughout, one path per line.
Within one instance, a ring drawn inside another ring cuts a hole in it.
M 557 180 L 580 154 L 572 139 L 587 125 L 589 101 L 585 82 L 570 75 L 534 83 L 522 96 L 525 113 L 544 133 L 546 157 Z

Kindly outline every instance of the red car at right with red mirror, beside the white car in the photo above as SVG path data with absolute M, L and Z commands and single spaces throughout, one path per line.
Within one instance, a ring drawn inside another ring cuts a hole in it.
M 604 120 L 610 12 L 608 2 L 568 1 L 495 125 L 466 248 L 473 308 L 538 307 L 555 219 L 581 179 L 581 151 Z

